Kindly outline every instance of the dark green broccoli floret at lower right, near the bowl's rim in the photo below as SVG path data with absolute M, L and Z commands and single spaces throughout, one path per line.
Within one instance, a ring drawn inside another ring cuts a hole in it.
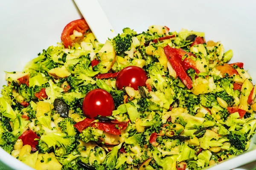
M 230 140 L 230 144 L 233 144 L 237 149 L 245 150 L 248 139 L 244 133 L 239 131 L 231 131 L 227 138 Z

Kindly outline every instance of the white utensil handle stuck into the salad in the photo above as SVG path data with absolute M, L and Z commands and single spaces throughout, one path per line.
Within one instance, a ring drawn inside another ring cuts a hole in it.
M 96 39 L 105 43 L 116 36 L 98 0 L 74 0 Z

